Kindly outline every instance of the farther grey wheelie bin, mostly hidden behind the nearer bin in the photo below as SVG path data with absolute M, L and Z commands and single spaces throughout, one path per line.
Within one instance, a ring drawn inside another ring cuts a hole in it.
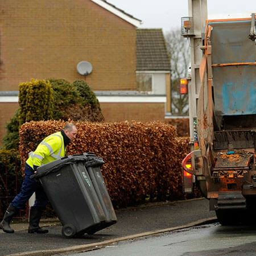
M 90 233 L 93 234 L 100 229 L 115 224 L 117 222 L 117 216 L 115 215 L 112 201 L 109 197 L 108 189 L 106 188 L 104 178 L 101 174 L 100 167 L 104 163 L 103 160 L 93 153 L 84 153 L 83 155 L 86 157 L 86 162 L 84 163 L 84 166 L 88 171 L 90 180 L 93 183 L 93 187 L 98 196 L 98 200 L 100 201 L 101 207 L 105 214 L 105 222 L 102 222 L 100 226 L 92 227 L 92 229 L 90 230 Z

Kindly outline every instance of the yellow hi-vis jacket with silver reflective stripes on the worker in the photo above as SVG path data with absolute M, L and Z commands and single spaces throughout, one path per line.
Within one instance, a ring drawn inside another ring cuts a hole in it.
M 45 138 L 30 155 L 26 163 L 33 168 L 33 166 L 42 166 L 56 159 L 65 156 L 65 146 L 63 135 L 60 131 L 53 133 Z

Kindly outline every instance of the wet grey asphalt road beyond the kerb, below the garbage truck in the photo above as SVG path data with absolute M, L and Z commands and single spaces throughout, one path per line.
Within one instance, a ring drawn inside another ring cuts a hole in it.
M 251 256 L 256 255 L 256 226 L 206 224 L 113 243 L 70 256 Z

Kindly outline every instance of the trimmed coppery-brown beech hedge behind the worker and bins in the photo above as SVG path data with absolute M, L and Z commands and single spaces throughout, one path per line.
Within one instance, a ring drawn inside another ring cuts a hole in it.
M 63 129 L 64 121 L 31 121 L 20 127 L 20 159 L 49 134 Z M 189 152 L 189 138 L 177 137 L 174 126 L 162 122 L 74 122 L 75 141 L 67 155 L 94 152 L 104 159 L 102 175 L 115 208 L 145 200 L 184 199 L 181 161 Z M 196 196 L 196 195 L 194 195 Z

